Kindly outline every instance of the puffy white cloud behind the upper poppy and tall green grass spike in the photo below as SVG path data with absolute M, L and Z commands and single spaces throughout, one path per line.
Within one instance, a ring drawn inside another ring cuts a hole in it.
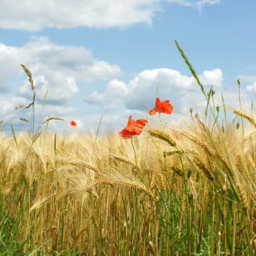
M 205 70 L 199 76 L 203 86 L 222 88 L 222 70 Z M 127 84 L 113 79 L 103 93 L 92 92 L 85 101 L 102 105 L 105 109 L 115 109 L 117 102 L 124 102 L 127 109 L 143 110 L 154 106 L 157 83 L 160 81 L 159 96 L 168 98 L 177 112 L 186 112 L 190 104 L 202 105 L 203 96 L 193 76 L 184 76 L 177 70 L 166 68 L 144 70 Z M 187 106 L 187 107 L 186 107 Z

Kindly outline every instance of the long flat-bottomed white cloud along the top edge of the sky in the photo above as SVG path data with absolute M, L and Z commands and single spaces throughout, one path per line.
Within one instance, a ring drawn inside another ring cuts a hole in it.
M 221 0 L 2 0 L 0 28 L 40 31 L 43 28 L 127 28 L 151 24 L 162 5 L 173 2 L 196 7 L 219 4 Z M 10 15 L 11 14 L 11 15 Z

